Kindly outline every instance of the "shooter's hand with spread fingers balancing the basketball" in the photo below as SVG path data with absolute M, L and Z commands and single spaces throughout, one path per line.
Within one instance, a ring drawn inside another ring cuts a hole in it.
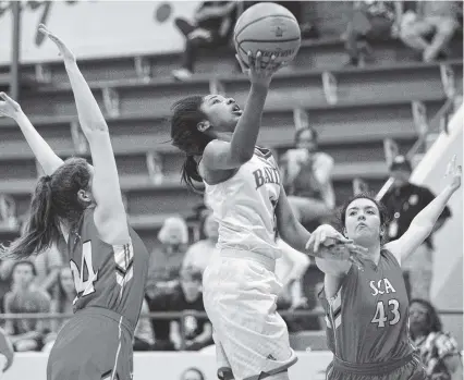
M 247 74 L 252 84 L 260 84 L 268 87 L 272 81 L 273 74 L 285 65 L 284 62 L 276 63 L 276 56 L 271 56 L 267 63 L 262 62 L 262 52 L 258 51 L 253 56 L 251 51 L 247 53 L 248 65 L 242 60 L 239 54 L 235 54 L 236 60 L 244 74 Z

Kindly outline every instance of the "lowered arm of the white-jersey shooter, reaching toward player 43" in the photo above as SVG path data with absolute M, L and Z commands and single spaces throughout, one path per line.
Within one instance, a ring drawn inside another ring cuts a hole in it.
M 356 256 L 363 255 L 366 249 L 352 244 L 329 224 L 319 226 L 313 234 L 309 233 L 294 216 L 283 186 L 281 186 L 279 201 L 276 206 L 276 217 L 280 237 L 294 249 L 314 257 L 353 261 L 361 266 Z M 338 242 L 338 244 L 328 248 L 323 245 L 328 240 Z

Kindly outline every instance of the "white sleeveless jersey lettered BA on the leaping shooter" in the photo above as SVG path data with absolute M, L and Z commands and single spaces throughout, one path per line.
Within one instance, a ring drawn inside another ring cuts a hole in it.
M 280 257 L 274 212 L 280 174 L 268 149 L 256 149 L 235 175 L 217 185 L 205 183 L 205 200 L 219 222 L 218 248 Z

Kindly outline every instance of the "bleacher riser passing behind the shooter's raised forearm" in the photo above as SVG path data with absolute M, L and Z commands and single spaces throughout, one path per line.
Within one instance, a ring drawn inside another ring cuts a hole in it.
M 461 82 L 462 61 L 450 61 Z M 322 72 L 297 71 L 276 76 L 266 102 L 266 109 L 279 107 L 330 107 L 322 90 Z M 444 97 L 440 69 L 435 64 L 398 64 L 388 69 L 351 69 L 332 72 L 338 82 L 340 105 L 369 103 L 392 100 L 415 100 Z M 396 79 L 391 81 L 394 76 Z M 426 79 L 425 79 L 426 78 Z M 243 75 L 224 76 L 221 84 L 228 96 L 244 106 L 249 83 Z M 209 77 L 202 76 L 186 83 L 172 79 L 148 83 L 125 79 L 90 83 L 100 108 L 108 115 L 151 114 L 169 112 L 172 103 L 186 95 L 209 93 Z M 108 95 L 109 94 L 109 95 Z M 112 100 L 112 101 L 110 101 Z M 111 105 L 111 107 L 109 107 Z M 73 115 L 74 97 L 68 84 L 45 86 L 24 91 L 22 107 L 30 115 Z

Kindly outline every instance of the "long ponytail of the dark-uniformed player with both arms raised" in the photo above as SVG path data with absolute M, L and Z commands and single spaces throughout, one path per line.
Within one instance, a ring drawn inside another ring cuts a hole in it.
M 59 230 L 52 209 L 51 177 L 41 176 L 37 183 L 26 229 L 9 247 L 1 246 L 0 257 L 23 260 L 41 253 L 58 238 Z

